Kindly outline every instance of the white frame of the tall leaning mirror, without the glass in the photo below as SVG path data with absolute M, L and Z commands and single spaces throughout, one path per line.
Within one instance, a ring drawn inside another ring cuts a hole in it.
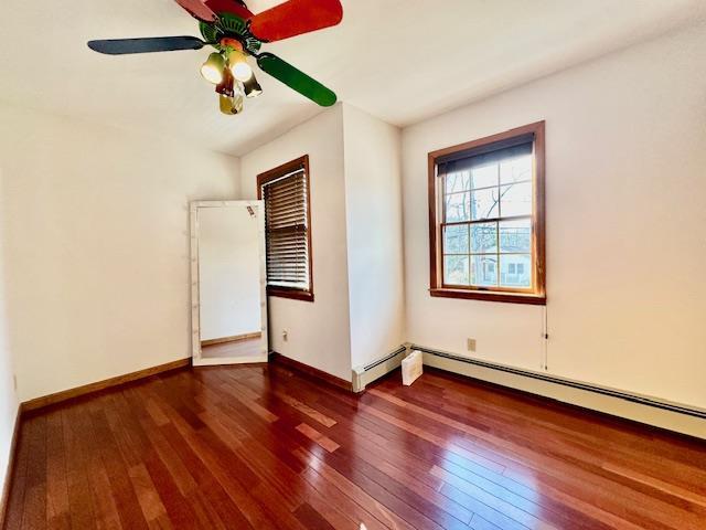
M 207 359 L 201 356 L 201 298 L 199 290 L 199 210 L 203 208 L 253 208 L 257 212 L 257 232 L 260 251 L 260 350 L 257 356 Z M 192 201 L 191 214 L 191 338 L 194 367 L 267 362 L 267 266 L 265 255 L 264 201 Z

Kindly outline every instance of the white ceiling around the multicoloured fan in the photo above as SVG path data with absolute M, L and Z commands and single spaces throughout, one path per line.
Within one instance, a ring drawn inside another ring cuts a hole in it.
M 252 0 L 254 12 L 279 3 Z M 343 23 L 266 50 L 347 102 L 406 126 L 706 17 L 704 0 L 343 0 Z M 320 108 L 265 94 L 222 116 L 207 50 L 107 56 L 90 39 L 199 35 L 173 0 L 3 0 L 0 99 L 243 155 Z

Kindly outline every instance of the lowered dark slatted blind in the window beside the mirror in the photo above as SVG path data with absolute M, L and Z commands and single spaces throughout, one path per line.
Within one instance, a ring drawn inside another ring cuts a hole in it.
M 263 184 L 268 285 L 309 289 L 307 189 L 303 168 Z

